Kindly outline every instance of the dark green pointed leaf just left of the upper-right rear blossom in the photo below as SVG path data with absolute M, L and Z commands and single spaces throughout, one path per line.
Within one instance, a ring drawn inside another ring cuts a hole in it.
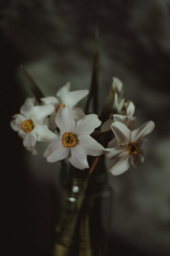
M 116 81 L 113 80 L 111 90 L 110 90 L 109 96 L 107 98 L 107 102 L 105 103 L 102 113 L 99 118 L 102 121 L 102 123 L 105 122 L 109 118 L 109 116 L 113 113 L 115 93 L 116 93 Z

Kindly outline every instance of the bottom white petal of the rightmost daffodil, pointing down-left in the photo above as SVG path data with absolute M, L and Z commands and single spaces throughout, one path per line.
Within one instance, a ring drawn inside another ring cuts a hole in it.
M 129 154 L 128 152 L 123 152 L 119 154 L 115 161 L 108 167 L 108 171 L 113 175 L 119 175 L 124 173 L 129 169 Z

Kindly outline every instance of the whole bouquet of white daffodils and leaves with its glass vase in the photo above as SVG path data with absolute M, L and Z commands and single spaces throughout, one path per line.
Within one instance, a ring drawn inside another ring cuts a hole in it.
M 83 183 L 76 175 L 71 183 L 69 179 L 61 183 L 62 211 L 55 227 L 53 255 L 105 256 L 108 232 L 102 227 L 101 208 L 104 207 L 105 222 L 109 222 L 112 193 L 103 185 L 104 158 L 112 160 L 108 171 L 113 175 L 122 174 L 130 165 L 140 165 L 144 160 L 141 144 L 146 139 L 143 137 L 152 132 L 154 122 L 148 121 L 135 129 L 135 106 L 123 97 L 123 84 L 116 77 L 113 77 L 111 90 L 98 118 L 95 71 L 90 92 L 70 91 L 70 83 L 67 83 L 55 96 L 45 97 L 29 73 L 21 68 L 40 103 L 35 106 L 35 97 L 27 98 L 20 113 L 15 114 L 11 121 L 11 127 L 23 139 L 24 147 L 37 154 L 36 142 L 49 143 L 44 157 L 48 162 L 62 160 L 64 173 L 66 158 L 72 166 L 70 173 L 74 175 L 75 171 L 77 175 L 89 168 Z M 88 94 L 83 111 L 77 104 Z M 92 95 L 95 113 L 88 112 Z

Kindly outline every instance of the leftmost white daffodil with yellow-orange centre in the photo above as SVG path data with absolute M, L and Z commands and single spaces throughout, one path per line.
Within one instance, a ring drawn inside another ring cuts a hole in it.
M 43 124 L 44 118 L 54 111 L 54 106 L 34 106 L 35 98 L 27 98 L 20 109 L 20 114 L 13 116 L 11 127 L 23 139 L 24 147 L 32 154 L 37 154 L 36 141 L 50 142 L 58 136 Z

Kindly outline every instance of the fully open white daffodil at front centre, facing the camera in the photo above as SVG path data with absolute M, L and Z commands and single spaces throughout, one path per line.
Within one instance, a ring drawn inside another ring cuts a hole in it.
M 78 168 L 89 168 L 87 155 L 100 156 L 103 146 L 93 139 L 90 134 L 101 125 L 96 114 L 88 114 L 75 122 L 69 108 L 60 108 L 55 118 L 60 129 L 60 136 L 47 147 L 44 157 L 48 162 L 55 162 L 67 157 L 70 163 Z

